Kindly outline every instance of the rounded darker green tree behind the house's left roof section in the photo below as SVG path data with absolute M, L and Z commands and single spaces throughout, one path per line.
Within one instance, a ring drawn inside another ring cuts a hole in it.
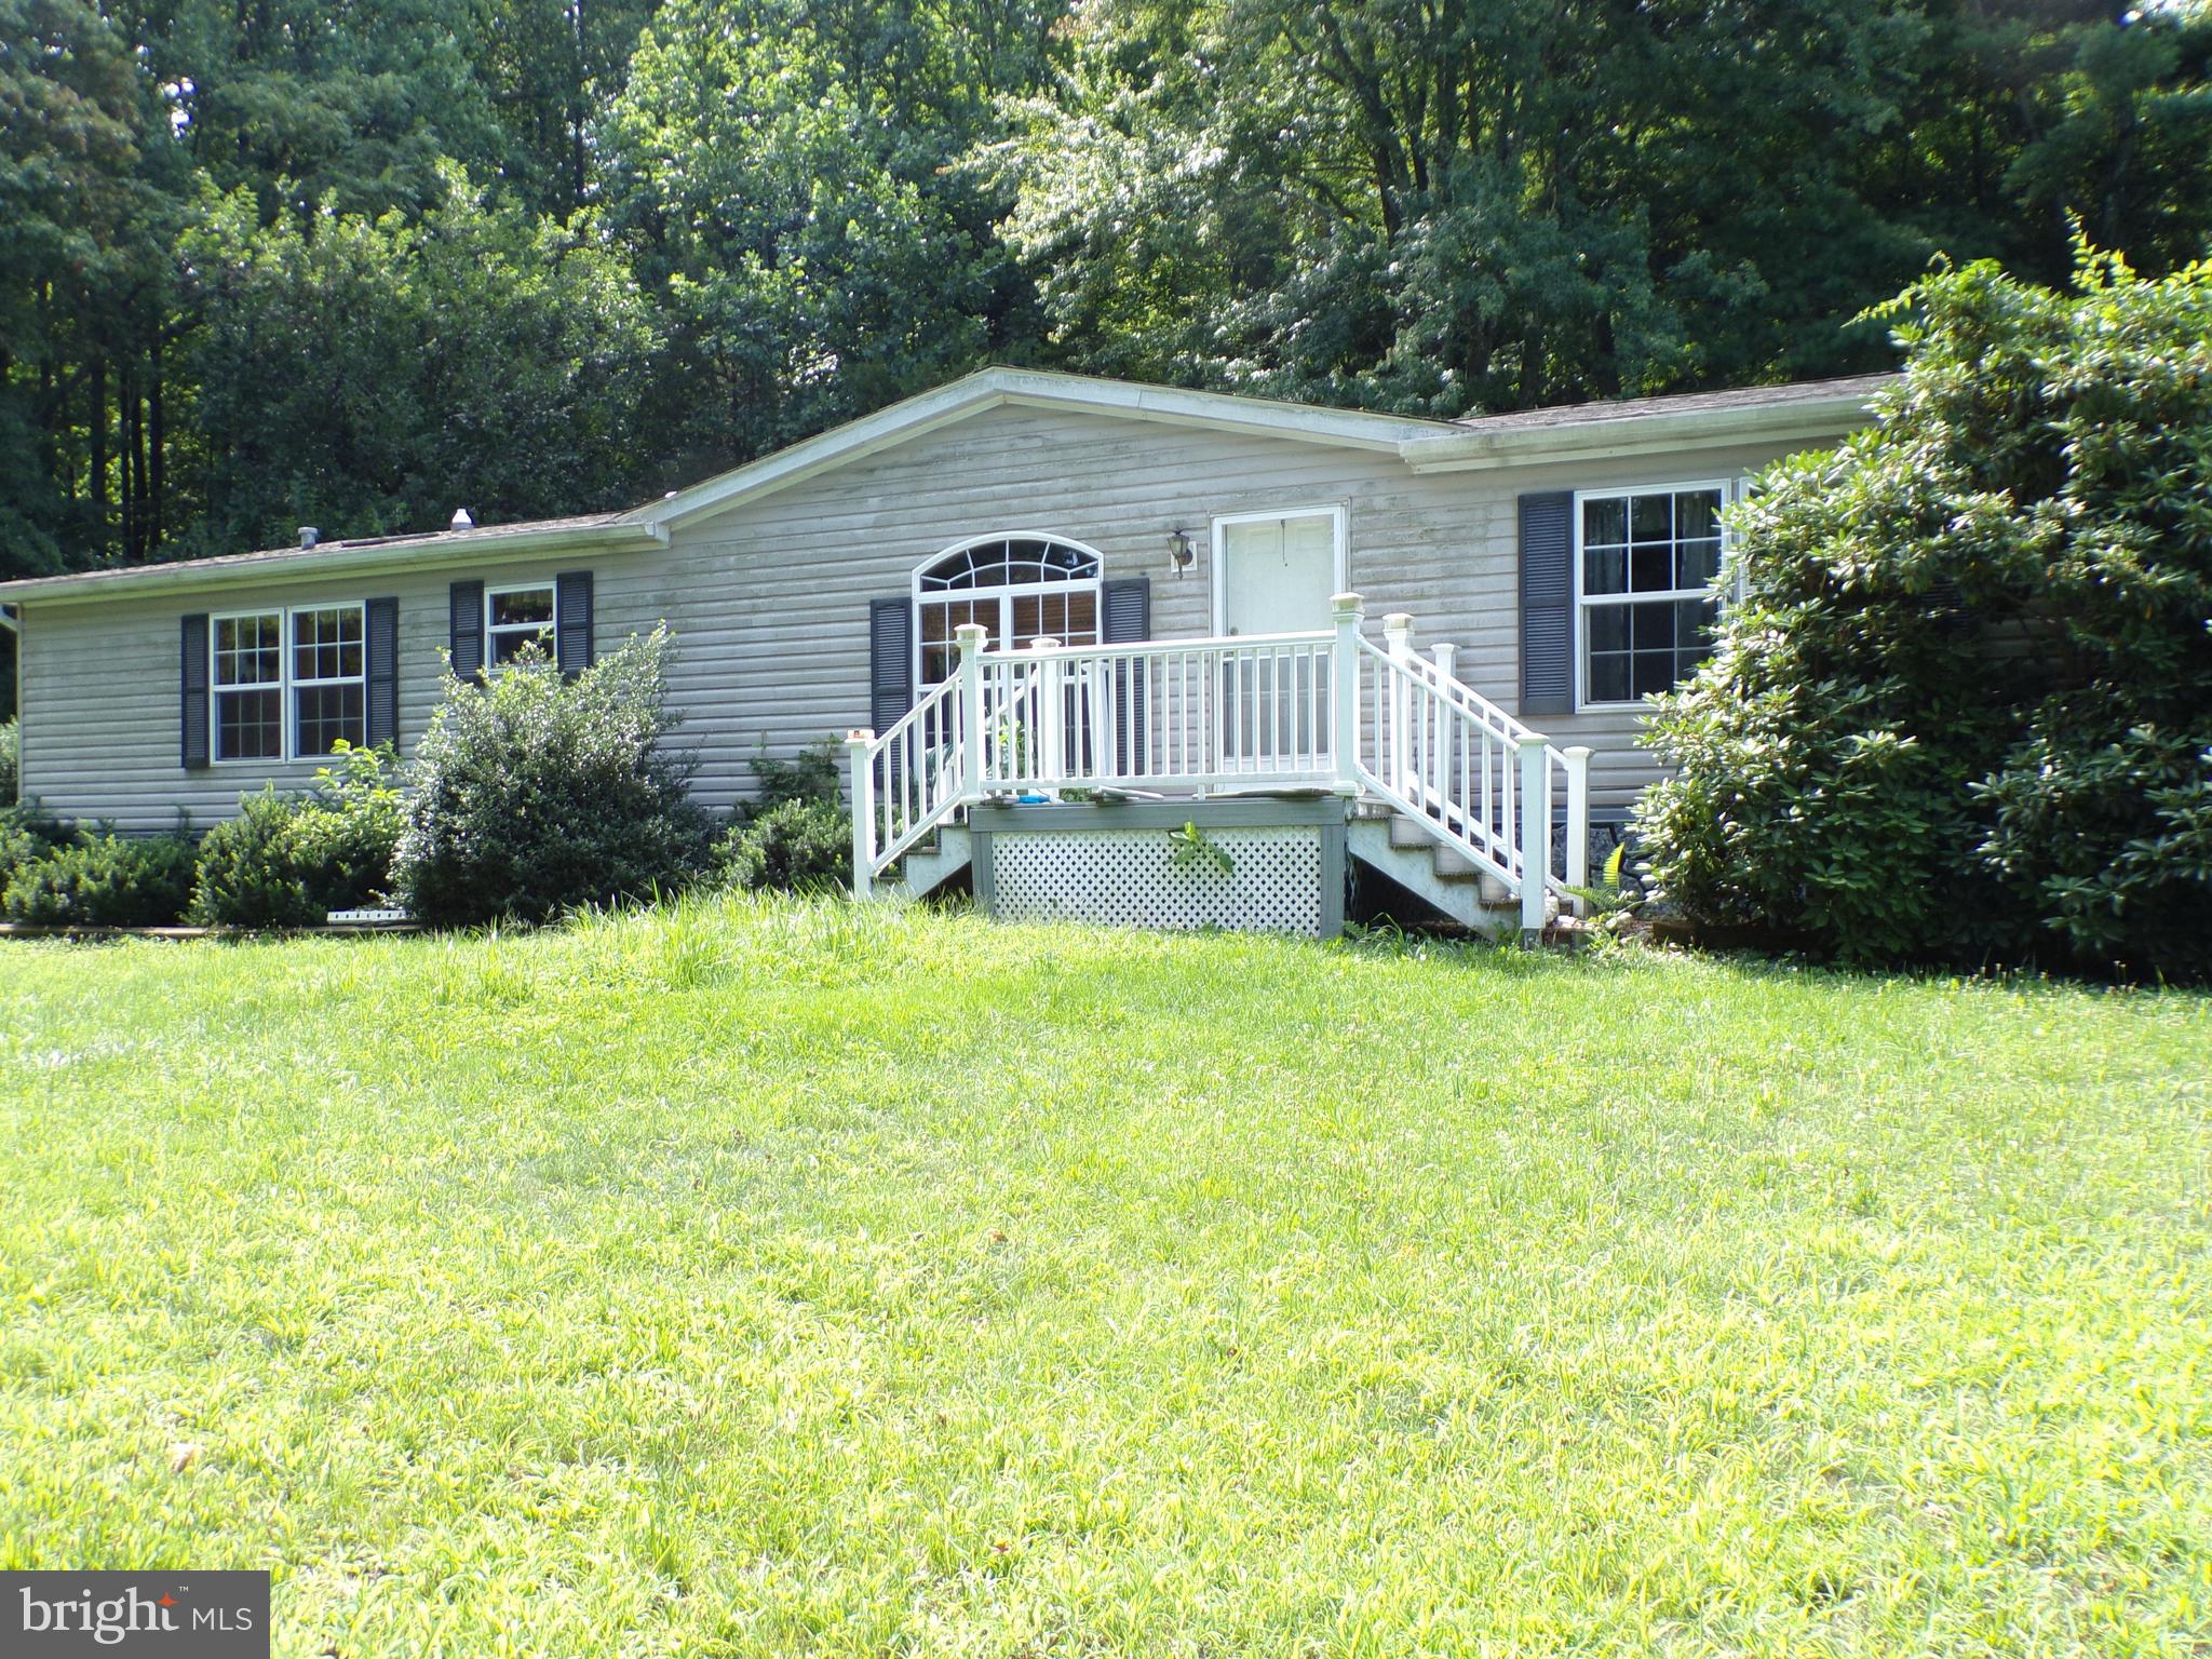
M 458 173 L 420 219 L 259 223 L 210 199 L 184 239 L 199 418 L 223 434 L 186 546 L 270 546 L 633 502 L 655 319 L 588 215 L 498 206 Z

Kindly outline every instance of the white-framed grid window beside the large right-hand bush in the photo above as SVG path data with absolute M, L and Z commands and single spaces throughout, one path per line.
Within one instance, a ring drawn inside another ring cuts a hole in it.
M 1635 703 L 1712 650 L 1728 484 L 1575 498 L 1584 708 Z

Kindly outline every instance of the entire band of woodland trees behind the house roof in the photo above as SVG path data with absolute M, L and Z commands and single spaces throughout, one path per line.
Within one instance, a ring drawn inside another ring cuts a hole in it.
M 0 575 L 637 500 L 984 358 L 1880 365 L 1933 250 L 2201 252 L 2208 55 L 2199 0 L 0 0 Z

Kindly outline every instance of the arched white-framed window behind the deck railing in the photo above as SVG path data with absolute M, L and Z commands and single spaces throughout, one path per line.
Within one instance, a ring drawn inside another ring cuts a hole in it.
M 962 622 L 989 628 L 993 650 L 1020 650 L 1040 637 L 1095 646 L 1097 549 L 1020 531 L 956 542 L 929 560 L 914 573 L 916 692 L 951 677 Z

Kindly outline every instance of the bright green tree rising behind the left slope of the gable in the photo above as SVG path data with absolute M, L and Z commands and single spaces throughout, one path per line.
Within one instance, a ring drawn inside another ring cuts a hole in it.
M 1018 307 L 949 159 L 991 80 L 1033 75 L 1013 7 L 672 0 L 606 122 L 611 215 L 661 296 L 686 469 L 739 460 L 971 367 Z M 982 24 L 991 24 L 987 31 Z M 1015 44 L 1009 44 L 1009 35 Z

